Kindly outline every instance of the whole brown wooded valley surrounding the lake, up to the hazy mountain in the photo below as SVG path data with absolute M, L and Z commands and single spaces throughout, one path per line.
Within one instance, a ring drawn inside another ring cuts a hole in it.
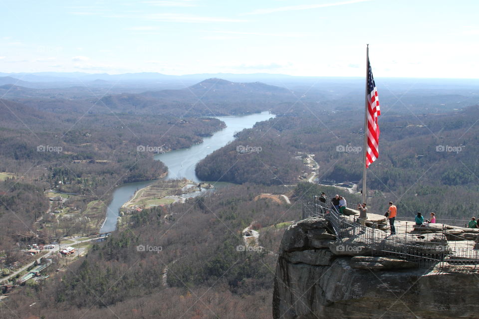
M 234 142 L 196 167 L 200 179 L 240 185 L 132 210 L 121 231 L 86 256 L 70 264 L 56 259 L 65 272 L 10 294 L 8 307 L 25 318 L 269 318 L 274 252 L 283 229 L 300 218 L 303 201 L 321 191 L 360 201 L 346 189 L 298 183 L 305 180 L 299 175 L 311 173 L 305 158 L 312 154 L 317 182 L 361 184 L 363 113 L 351 92 L 209 79 L 183 90 L 99 101 L 16 93 L 15 101 L 0 101 L 0 249 L 9 263 L 19 259 L 12 254 L 16 243 L 64 240 L 72 229 L 97 231 L 115 185 L 164 175 L 168 168 L 155 153 L 188 148 L 224 128 L 202 116 L 276 115 L 237 132 Z M 393 94 L 382 100 L 380 158 L 368 169 L 369 209 L 383 213 L 393 200 L 399 218 L 435 211 L 440 222 L 469 219 L 479 209 L 479 107 L 454 110 L 467 99 L 415 94 L 421 99 L 411 110 Z M 48 204 L 55 191 L 68 193 L 61 205 Z M 78 217 L 72 225 L 51 213 L 62 205 Z M 248 226 L 258 231 L 257 245 L 244 241 Z M 246 243 L 255 250 L 239 248 Z M 23 307 L 34 303 L 41 307 Z M 0 318 L 10 316 L 0 307 Z

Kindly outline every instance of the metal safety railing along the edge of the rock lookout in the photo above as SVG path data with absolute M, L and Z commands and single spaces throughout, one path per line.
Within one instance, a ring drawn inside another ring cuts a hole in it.
M 341 215 L 331 205 L 330 200 L 321 202 L 318 197 L 303 204 L 302 210 L 303 219 L 315 216 L 324 217 L 329 221 L 338 240 L 349 238 L 353 240 L 354 245 L 367 246 L 367 254 L 371 256 L 399 257 L 417 262 L 420 267 L 438 265 L 438 269 L 449 267 L 451 264 L 479 264 L 477 249 L 479 244 L 476 244 L 476 241 L 470 241 L 469 247 L 467 245 L 465 247 L 464 244 L 460 244 L 460 242 L 464 243 L 465 238 L 448 233 L 444 226 L 440 232 L 434 233 L 434 238 L 431 240 L 414 242 L 413 237 L 417 239 L 421 234 L 406 231 L 401 236 L 388 235 L 385 231 L 378 229 L 377 224 L 373 223 L 372 227 L 361 226 L 354 216 Z M 408 239 L 408 236 L 411 238 Z M 456 267 L 455 270 L 458 269 Z M 470 270 L 470 267 L 463 269 Z

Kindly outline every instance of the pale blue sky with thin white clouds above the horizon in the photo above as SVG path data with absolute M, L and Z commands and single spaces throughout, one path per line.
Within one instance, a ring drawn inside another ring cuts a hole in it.
M 0 72 L 479 78 L 477 0 L 0 0 Z

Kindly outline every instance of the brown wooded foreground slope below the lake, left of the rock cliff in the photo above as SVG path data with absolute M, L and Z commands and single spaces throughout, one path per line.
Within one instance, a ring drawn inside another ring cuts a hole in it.
M 268 318 L 274 252 L 284 228 L 263 227 L 297 219 L 300 205 L 254 197 L 285 190 L 248 184 L 185 204 L 138 212 L 130 229 L 93 246 L 87 257 L 52 283 L 25 288 L 10 305 L 20 309 L 20 305 L 39 302 L 51 319 L 85 312 L 89 318 L 114 318 L 112 312 L 144 318 L 177 319 L 211 312 L 228 314 L 228 318 Z M 240 231 L 253 221 L 264 248 L 238 250 L 244 245 Z M 161 250 L 139 251 L 139 245 Z M 195 303 L 199 296 L 208 302 Z M 28 308 L 19 313 L 39 314 L 38 309 Z M 0 318 L 5 316 L 7 312 L 0 308 Z

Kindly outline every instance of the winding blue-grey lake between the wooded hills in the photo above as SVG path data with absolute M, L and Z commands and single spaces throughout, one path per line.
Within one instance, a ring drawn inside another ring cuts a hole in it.
M 261 112 L 245 116 L 222 116 L 217 117 L 226 123 L 227 127 L 216 132 L 211 137 L 203 139 L 203 143 L 196 144 L 187 149 L 175 150 L 164 154 L 155 155 L 155 160 L 161 160 L 168 166 L 168 179 L 187 178 L 195 182 L 200 182 L 195 173 L 196 164 L 207 155 L 224 147 L 233 141 L 234 135 L 243 129 L 253 127 L 256 122 L 265 121 L 274 117 L 269 112 Z M 106 220 L 100 229 L 101 233 L 110 232 L 116 229 L 116 218 L 118 217 L 120 207 L 126 203 L 135 192 L 151 183 L 154 180 L 140 181 L 135 183 L 126 183 L 118 186 L 113 192 L 113 199 L 108 205 Z M 221 183 L 213 183 L 220 186 Z

